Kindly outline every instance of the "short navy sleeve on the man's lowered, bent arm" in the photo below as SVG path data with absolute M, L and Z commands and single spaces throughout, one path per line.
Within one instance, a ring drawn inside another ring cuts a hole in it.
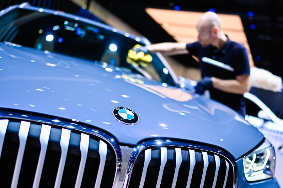
M 234 64 L 235 76 L 250 75 L 248 50 L 246 48 L 243 47 L 237 50 Z

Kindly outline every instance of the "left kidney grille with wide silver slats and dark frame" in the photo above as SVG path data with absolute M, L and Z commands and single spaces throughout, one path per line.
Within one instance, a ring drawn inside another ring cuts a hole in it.
M 83 123 L 6 114 L 0 117 L 1 170 L 8 169 L 1 176 L 4 187 L 116 186 L 121 151 L 108 134 Z

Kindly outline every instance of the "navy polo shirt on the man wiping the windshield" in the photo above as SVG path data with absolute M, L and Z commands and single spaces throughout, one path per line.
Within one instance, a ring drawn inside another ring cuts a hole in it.
M 220 50 L 211 45 L 202 47 L 198 41 L 187 44 L 187 50 L 189 50 L 191 55 L 198 57 L 202 77 L 213 76 L 219 79 L 228 80 L 236 79 L 236 76 L 250 74 L 247 49 L 243 44 L 231 41 L 229 38 L 227 43 Z M 202 57 L 207 57 L 230 65 L 234 68 L 234 72 L 205 63 L 201 60 Z M 210 96 L 212 99 L 231 107 L 238 113 L 242 115 L 246 114 L 245 98 L 243 95 L 227 93 L 216 88 L 211 88 Z

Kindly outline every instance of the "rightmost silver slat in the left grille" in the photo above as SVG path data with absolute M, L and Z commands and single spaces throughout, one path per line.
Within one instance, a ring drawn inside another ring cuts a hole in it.
M 107 144 L 105 144 L 103 141 L 99 140 L 99 156 L 100 156 L 100 162 L 99 162 L 99 168 L 98 173 L 95 181 L 94 188 L 99 188 L 102 180 L 102 175 L 104 171 L 105 161 L 106 161 L 106 154 L 107 154 Z

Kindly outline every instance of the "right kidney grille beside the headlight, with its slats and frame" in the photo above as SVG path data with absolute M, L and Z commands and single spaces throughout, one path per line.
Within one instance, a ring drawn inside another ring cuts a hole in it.
M 164 145 L 163 145 L 164 144 Z M 124 187 L 233 187 L 232 158 L 215 148 L 147 141 L 134 148 Z M 224 154 L 224 155 L 223 155 Z M 150 158 L 151 157 L 151 158 Z M 149 162 L 150 161 L 150 162 Z

